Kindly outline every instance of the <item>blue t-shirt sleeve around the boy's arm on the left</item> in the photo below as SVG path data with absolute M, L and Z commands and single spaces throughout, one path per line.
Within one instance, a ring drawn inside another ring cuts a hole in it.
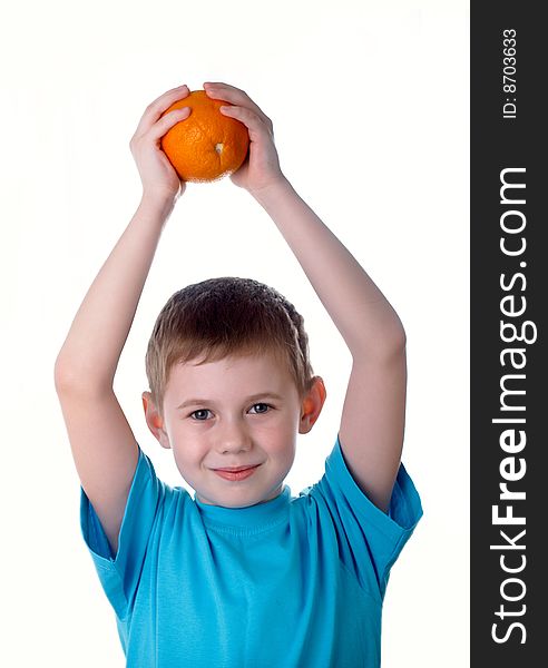
M 138 588 L 150 534 L 164 499 L 164 488 L 153 463 L 139 446 L 139 459 L 120 527 L 118 552 L 114 557 L 100 520 L 80 485 L 82 537 L 102 589 L 119 619 L 126 617 Z

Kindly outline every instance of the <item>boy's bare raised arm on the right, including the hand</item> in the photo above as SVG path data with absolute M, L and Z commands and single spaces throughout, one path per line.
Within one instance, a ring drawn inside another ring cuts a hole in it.
M 249 158 L 232 175 L 274 220 L 352 354 L 339 438 L 346 464 L 373 503 L 388 510 L 405 414 L 405 333 L 356 259 L 295 193 L 280 169 L 273 125 L 243 90 L 205 85 L 249 131 Z M 223 109 L 222 109 L 223 110 Z

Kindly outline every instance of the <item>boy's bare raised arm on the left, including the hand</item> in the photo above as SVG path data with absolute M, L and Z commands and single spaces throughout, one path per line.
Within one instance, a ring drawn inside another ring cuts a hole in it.
M 140 204 L 88 289 L 55 364 L 78 475 L 115 553 L 138 446 L 112 383 L 162 229 L 185 187 L 158 144 L 188 115 L 177 110 L 160 119 L 162 112 L 187 94 L 174 89 L 158 98 L 131 138 Z

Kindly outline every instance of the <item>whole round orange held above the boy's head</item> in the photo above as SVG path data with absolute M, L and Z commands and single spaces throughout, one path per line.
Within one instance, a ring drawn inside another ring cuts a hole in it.
M 243 122 L 218 110 L 229 106 L 209 98 L 205 90 L 193 90 L 174 102 L 162 116 L 190 107 L 190 115 L 164 137 L 162 149 L 185 181 L 214 181 L 238 169 L 247 156 L 249 135 Z

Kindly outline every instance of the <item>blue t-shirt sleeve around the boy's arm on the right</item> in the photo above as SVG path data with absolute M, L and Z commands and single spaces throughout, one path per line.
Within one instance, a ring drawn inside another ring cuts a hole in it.
M 400 464 L 389 512 L 384 513 L 352 478 L 339 438 L 325 460 L 325 473 L 310 493 L 326 505 L 339 556 L 360 584 L 384 597 L 390 569 L 422 517 L 419 493 Z

